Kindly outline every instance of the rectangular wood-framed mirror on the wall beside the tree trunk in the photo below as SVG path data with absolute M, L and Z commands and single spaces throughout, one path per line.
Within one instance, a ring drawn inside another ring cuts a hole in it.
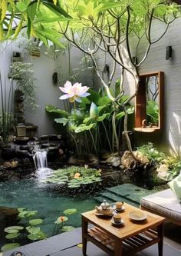
M 135 131 L 163 128 L 163 71 L 140 75 L 135 105 Z

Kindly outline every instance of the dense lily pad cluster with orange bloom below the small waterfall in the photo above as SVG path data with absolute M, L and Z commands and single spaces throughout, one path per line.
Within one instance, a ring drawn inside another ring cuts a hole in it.
M 91 185 L 100 181 L 100 170 L 87 166 L 58 169 L 48 175 L 48 178 L 41 180 L 44 183 L 66 185 L 67 188 L 80 188 L 81 185 Z

